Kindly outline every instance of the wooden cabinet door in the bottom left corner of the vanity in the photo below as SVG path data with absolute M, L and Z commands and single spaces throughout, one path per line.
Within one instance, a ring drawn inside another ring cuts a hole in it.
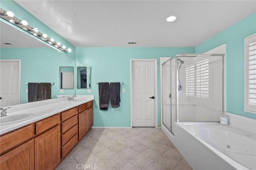
M 1 170 L 34 170 L 34 139 L 0 157 Z

